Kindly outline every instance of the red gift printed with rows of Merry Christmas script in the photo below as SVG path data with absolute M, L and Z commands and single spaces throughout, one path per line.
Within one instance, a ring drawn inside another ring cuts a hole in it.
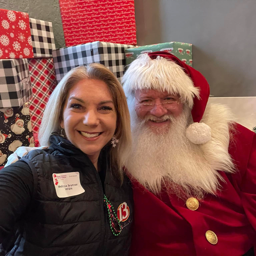
M 102 41 L 136 45 L 134 0 L 59 0 L 66 46 Z

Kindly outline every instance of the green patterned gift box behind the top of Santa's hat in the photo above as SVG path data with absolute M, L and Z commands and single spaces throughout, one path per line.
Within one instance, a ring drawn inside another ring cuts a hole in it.
M 192 44 L 169 42 L 162 44 L 150 44 L 135 47 L 133 49 L 125 49 L 126 65 L 132 63 L 140 54 L 148 52 L 170 52 L 184 63 L 192 67 Z

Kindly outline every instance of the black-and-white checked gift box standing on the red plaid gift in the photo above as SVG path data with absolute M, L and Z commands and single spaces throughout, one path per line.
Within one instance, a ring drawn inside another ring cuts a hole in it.
M 29 18 L 34 58 L 51 58 L 55 50 L 52 22 Z

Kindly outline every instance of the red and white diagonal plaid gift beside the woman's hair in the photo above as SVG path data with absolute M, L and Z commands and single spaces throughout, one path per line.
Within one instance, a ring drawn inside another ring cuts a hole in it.
M 29 100 L 32 131 L 38 132 L 45 105 L 56 87 L 56 76 L 52 58 L 28 60 L 33 97 Z

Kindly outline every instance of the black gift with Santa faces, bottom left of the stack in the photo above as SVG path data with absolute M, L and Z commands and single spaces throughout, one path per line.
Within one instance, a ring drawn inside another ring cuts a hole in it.
M 0 108 L 0 166 L 18 147 L 34 147 L 28 103 L 20 108 Z

